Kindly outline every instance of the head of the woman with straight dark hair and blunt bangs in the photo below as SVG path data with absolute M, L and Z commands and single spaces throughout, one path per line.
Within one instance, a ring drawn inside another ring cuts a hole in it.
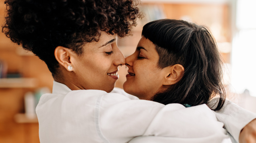
M 207 104 L 219 111 L 226 96 L 222 65 L 209 29 L 183 20 L 157 20 L 143 26 L 135 53 L 126 57 L 123 88 L 139 99 L 185 107 Z M 137 139 L 147 141 L 133 141 Z

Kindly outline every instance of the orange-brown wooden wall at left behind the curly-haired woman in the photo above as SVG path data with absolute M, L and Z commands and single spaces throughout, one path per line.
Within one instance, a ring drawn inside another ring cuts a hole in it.
M 4 1 L 0 0 L 1 25 L 4 23 L 5 7 Z M 32 88 L 0 88 L 0 143 L 39 143 L 38 123 L 17 123 L 14 116 L 24 113 L 26 92 L 34 92 L 39 87 L 51 90 L 53 85 L 51 72 L 45 63 L 32 54 L 20 52 L 21 49 L 0 32 L 0 60 L 8 64 L 8 73 L 21 73 L 22 77 L 37 81 Z

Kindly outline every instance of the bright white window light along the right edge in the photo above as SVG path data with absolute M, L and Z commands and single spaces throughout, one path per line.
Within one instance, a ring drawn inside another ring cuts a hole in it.
M 236 26 L 232 42 L 231 85 L 236 93 L 249 90 L 256 97 L 256 1 L 237 0 Z

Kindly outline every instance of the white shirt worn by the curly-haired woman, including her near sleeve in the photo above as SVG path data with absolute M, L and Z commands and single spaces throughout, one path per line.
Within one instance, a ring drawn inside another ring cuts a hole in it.
M 117 88 L 114 91 L 122 92 Z M 185 108 L 181 104 L 132 100 L 136 97 L 126 95 L 102 90 L 72 91 L 54 81 L 53 93 L 42 95 L 36 107 L 40 142 L 125 143 L 135 136 L 155 135 L 181 140 L 194 138 L 195 143 L 202 139 L 219 143 L 226 137 L 223 123 L 217 121 L 205 104 Z M 234 130 L 231 133 L 240 132 L 243 127 L 234 125 L 237 120 L 230 123 L 239 116 L 225 113 L 216 116 L 220 120 L 229 119 L 225 125 Z M 251 118 L 239 122 L 246 125 L 248 120 Z

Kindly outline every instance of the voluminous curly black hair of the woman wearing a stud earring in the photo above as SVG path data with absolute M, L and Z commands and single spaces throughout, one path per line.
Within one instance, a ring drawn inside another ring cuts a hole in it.
M 129 34 L 142 18 L 134 0 L 5 0 L 2 32 L 43 60 L 53 77 L 58 69 L 57 46 L 83 53 L 82 45 L 97 41 L 101 31 Z

